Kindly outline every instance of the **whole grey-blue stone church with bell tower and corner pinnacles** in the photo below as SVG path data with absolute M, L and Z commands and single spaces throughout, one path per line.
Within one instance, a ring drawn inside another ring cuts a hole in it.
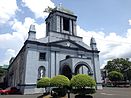
M 76 74 L 88 74 L 102 89 L 99 52 L 95 39 L 90 45 L 77 36 L 77 16 L 61 6 L 50 10 L 46 22 L 46 36 L 36 39 L 35 25 L 31 25 L 28 38 L 15 58 L 9 62 L 6 75 L 8 86 L 15 86 L 23 94 L 43 92 L 36 83 L 42 77 L 58 74 L 69 79 Z

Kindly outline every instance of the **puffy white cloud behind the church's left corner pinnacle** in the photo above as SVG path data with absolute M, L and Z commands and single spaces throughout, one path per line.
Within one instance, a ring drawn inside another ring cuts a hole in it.
M 34 19 L 30 17 L 26 17 L 23 24 L 22 22 L 15 20 L 12 29 L 16 31 L 17 34 L 15 35 L 18 35 L 21 40 L 25 41 L 27 39 L 29 27 L 31 24 L 35 25 L 37 39 L 45 37 L 46 24 L 38 24 Z

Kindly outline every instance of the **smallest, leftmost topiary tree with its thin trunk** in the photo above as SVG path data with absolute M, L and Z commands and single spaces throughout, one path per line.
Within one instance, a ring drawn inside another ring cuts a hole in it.
M 47 92 L 47 87 L 49 87 L 49 86 L 50 86 L 50 78 L 48 78 L 48 77 L 43 77 L 43 78 L 41 78 L 41 79 L 37 82 L 37 87 L 38 87 L 38 88 L 45 88 L 46 93 L 48 93 L 48 92 Z

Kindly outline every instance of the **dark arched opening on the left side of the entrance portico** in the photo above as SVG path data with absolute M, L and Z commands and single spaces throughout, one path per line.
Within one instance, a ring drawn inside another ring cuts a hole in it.
M 72 78 L 72 71 L 68 65 L 63 66 L 63 68 L 61 70 L 61 74 L 66 76 L 69 80 L 71 80 L 71 78 Z

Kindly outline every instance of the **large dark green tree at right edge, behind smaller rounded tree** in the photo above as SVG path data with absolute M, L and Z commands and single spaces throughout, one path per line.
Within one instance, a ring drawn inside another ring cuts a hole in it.
M 129 59 L 117 58 L 107 62 L 105 68 L 108 72 L 117 71 L 123 74 L 125 80 L 131 80 L 131 62 Z

